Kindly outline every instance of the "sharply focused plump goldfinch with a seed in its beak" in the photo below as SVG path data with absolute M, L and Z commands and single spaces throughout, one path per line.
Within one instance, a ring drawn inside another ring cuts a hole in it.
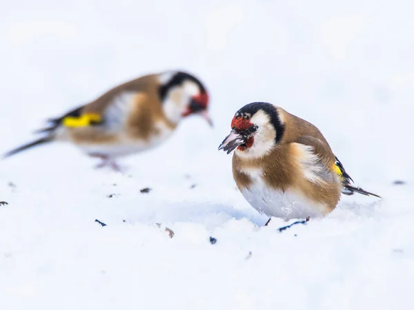
M 259 213 L 291 220 L 331 213 L 341 194 L 377 194 L 352 185 L 353 179 L 315 125 L 277 105 L 244 105 L 219 145 L 233 152 L 233 178 Z

